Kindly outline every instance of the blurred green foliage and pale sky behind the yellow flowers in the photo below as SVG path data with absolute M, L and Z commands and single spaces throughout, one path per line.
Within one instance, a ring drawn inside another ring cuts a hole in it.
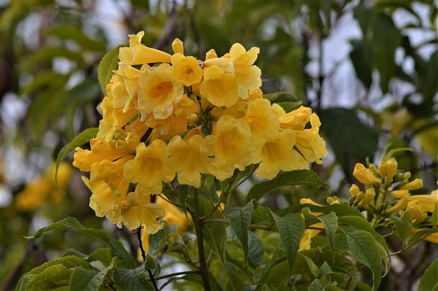
M 334 195 L 346 197 L 354 182 L 354 164 L 366 157 L 379 160 L 388 143 L 415 149 L 395 154 L 399 168 L 424 179 L 419 191 L 436 188 L 436 1 L 2 0 L 0 286 L 4 290 L 12 288 L 23 272 L 73 246 L 84 253 L 99 247 L 73 233 L 54 232 L 36 242 L 22 238 L 67 216 L 110 231 L 136 253 L 136 242 L 126 229 L 94 216 L 88 206 L 90 193 L 70 162 L 60 171 L 65 179 L 60 188 L 50 168 L 64 144 L 98 125 L 96 107 L 104 97 L 96 76 L 100 59 L 126 43 L 128 34 L 141 30 L 147 46 L 171 51 L 171 42 L 178 37 L 186 53 L 199 59 L 211 48 L 223 55 L 235 42 L 259 47 L 256 65 L 262 70 L 263 92 L 280 91 L 271 95 L 272 100 L 299 100 L 320 116 L 330 154 L 313 170 L 330 183 Z M 243 201 L 249 186 L 243 184 L 232 203 Z M 272 193 L 262 204 L 281 208 L 302 197 L 323 202 L 319 191 L 301 187 Z M 166 238 L 150 240 L 149 249 L 162 256 Z M 266 251 L 274 252 L 266 247 L 271 240 L 269 234 L 263 238 Z M 409 290 L 436 256 L 436 247 L 426 242 L 397 256 L 382 288 Z M 171 268 L 172 260 L 166 258 L 162 264 Z

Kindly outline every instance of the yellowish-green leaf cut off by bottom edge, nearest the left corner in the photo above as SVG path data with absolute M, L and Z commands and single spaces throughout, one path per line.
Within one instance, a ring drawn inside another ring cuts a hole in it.
M 53 265 L 36 274 L 27 285 L 26 290 L 48 291 L 68 286 L 70 271 L 64 265 Z

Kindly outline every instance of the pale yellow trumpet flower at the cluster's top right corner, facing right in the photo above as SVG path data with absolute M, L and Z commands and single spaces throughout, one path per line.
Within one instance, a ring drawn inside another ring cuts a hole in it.
M 246 51 L 239 43 L 235 43 L 230 49 L 234 75 L 239 82 L 239 96 L 244 99 L 248 98 L 248 90 L 257 89 L 261 86 L 261 71 L 253 65 L 259 52 L 259 48 Z

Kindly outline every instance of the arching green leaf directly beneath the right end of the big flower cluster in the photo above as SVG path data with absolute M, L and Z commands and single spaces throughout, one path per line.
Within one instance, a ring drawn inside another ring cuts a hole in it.
M 285 172 L 270 181 L 254 185 L 249 190 L 248 195 L 245 198 L 245 203 L 247 204 L 251 199 L 258 201 L 277 188 L 291 185 L 304 185 L 316 188 L 324 186 L 329 189 L 329 192 L 331 191 L 329 184 L 322 182 L 314 171 L 295 170 Z

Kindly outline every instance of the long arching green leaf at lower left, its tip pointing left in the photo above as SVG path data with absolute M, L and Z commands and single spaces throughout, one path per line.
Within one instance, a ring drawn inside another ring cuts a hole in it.
M 103 230 L 86 228 L 84 225 L 79 223 L 77 219 L 73 217 L 68 217 L 56 223 L 52 223 L 49 226 L 43 227 L 40 230 L 38 230 L 37 233 L 32 237 L 26 237 L 26 238 L 35 240 L 39 238 L 44 232 L 54 229 L 68 229 L 68 230 L 74 230 L 91 235 L 96 239 L 102 241 L 108 247 L 110 247 L 110 249 L 113 252 L 113 255 L 120 257 L 123 261 L 125 261 L 127 266 L 129 266 L 130 268 L 135 267 L 134 259 L 131 257 L 131 255 L 129 255 L 128 251 L 125 249 L 122 242 L 118 240 L 114 240 L 113 238 L 111 238 L 111 236 L 108 233 L 106 233 Z

